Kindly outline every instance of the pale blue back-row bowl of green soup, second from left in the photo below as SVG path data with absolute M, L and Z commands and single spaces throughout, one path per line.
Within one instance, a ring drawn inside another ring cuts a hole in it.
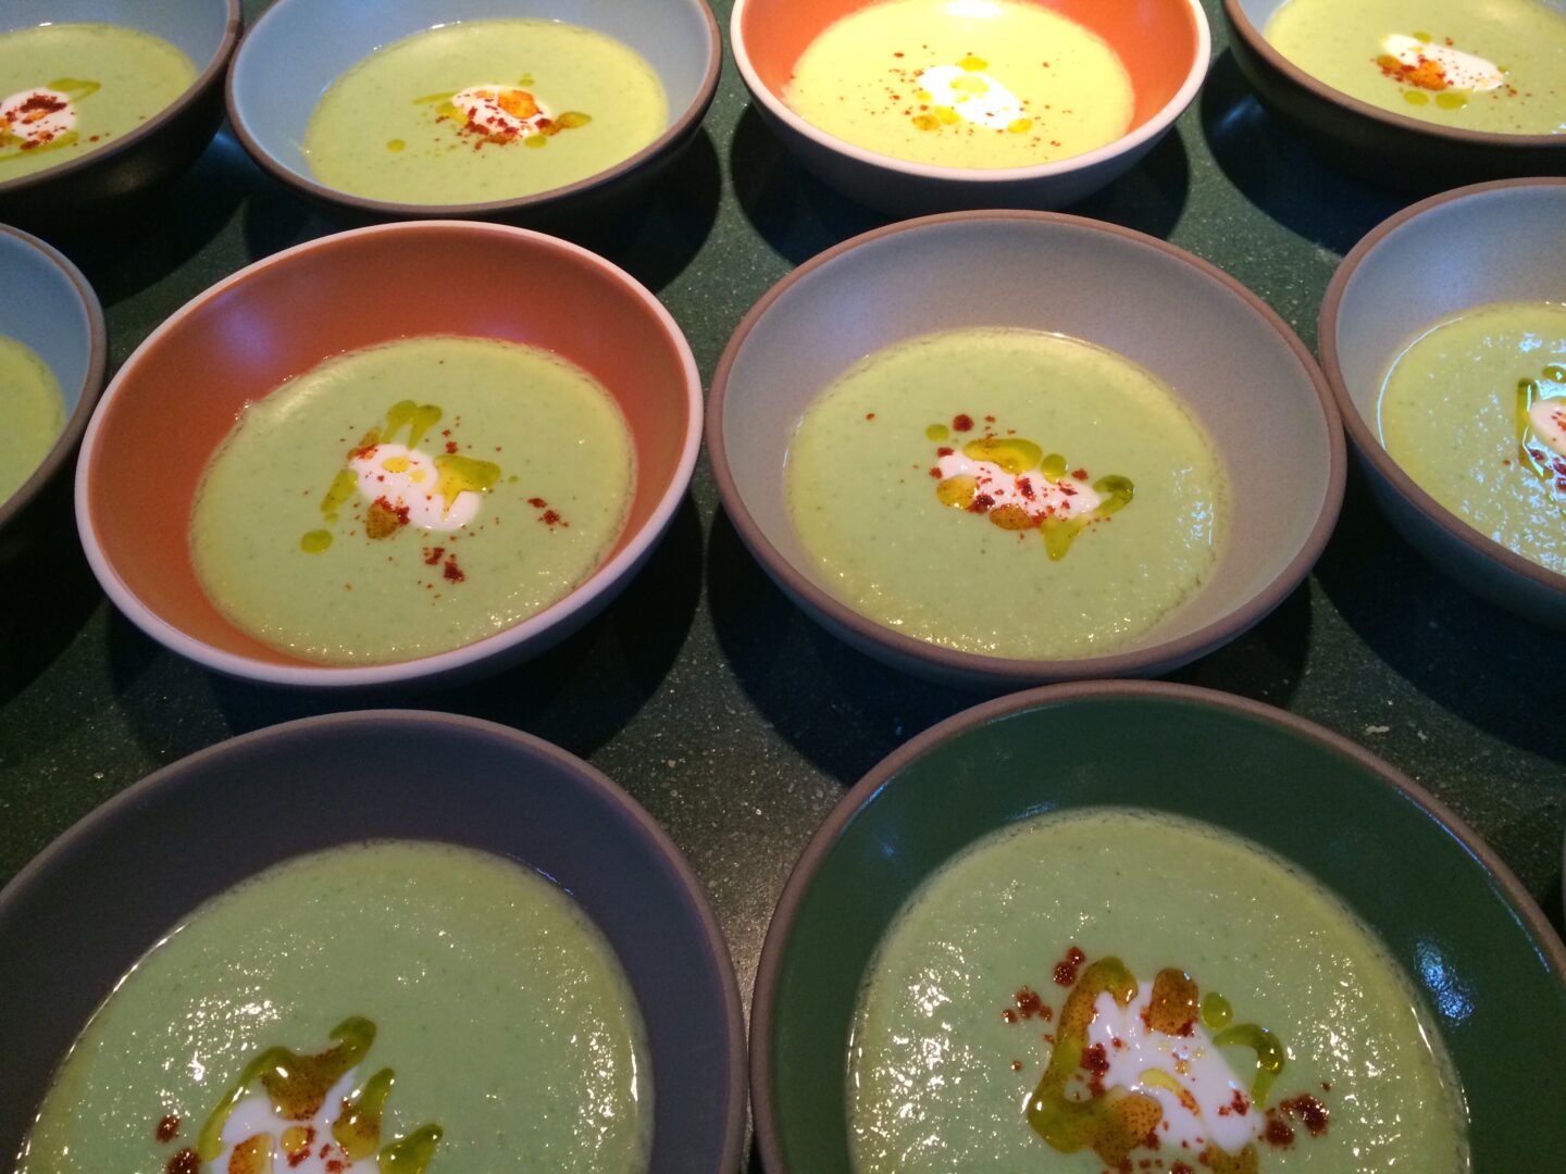
M 553 224 L 655 180 L 720 61 L 703 0 L 279 0 L 235 55 L 229 116 L 338 208 Z

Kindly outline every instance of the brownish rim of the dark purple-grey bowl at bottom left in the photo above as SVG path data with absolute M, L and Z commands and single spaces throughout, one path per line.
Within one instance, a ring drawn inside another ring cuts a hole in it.
M 468 717 L 465 714 L 445 714 L 428 709 L 357 709 L 340 714 L 318 714 L 315 717 L 302 717 L 293 722 L 263 726 L 246 734 L 236 734 L 235 737 L 204 747 L 202 750 L 169 762 L 168 765 L 153 770 L 150 775 L 144 775 L 124 790 L 119 790 L 99 803 L 81 819 L 52 839 L 41 853 L 22 866 L 20 872 L 17 872 L 5 886 L 0 886 L 0 924 L 6 920 L 9 908 L 16 902 L 22 900 L 30 889 L 45 884 L 49 881 L 49 873 L 53 872 L 60 862 L 67 861 L 85 839 L 99 834 L 105 826 L 111 828 L 121 811 L 141 806 L 169 789 L 180 787 L 182 780 L 191 775 L 191 772 L 202 772 L 211 761 L 221 762 L 236 748 L 249 748 L 258 744 L 276 742 L 279 737 L 290 739 L 301 731 L 313 734 L 319 729 L 330 731 L 355 726 L 376 726 L 382 723 L 398 725 L 402 729 L 428 728 L 465 731 L 465 734 L 474 737 L 498 739 L 514 747 L 520 747 L 526 753 L 537 754 L 539 758 L 562 765 L 573 776 L 578 786 L 594 792 L 620 811 L 634 825 L 636 831 L 651 842 L 655 853 L 662 858 L 662 861 L 675 873 L 680 888 L 684 891 L 691 906 L 697 913 L 697 919 L 702 925 L 702 936 L 705 939 L 703 944 L 706 947 L 706 960 L 713 963 L 714 971 L 719 975 L 719 986 L 723 988 L 723 1027 L 728 1036 L 727 1052 L 730 1079 L 725 1097 L 727 1115 L 723 1122 L 723 1165 L 720 1169 L 738 1169 L 745 1129 L 745 1021 L 739 1002 L 739 981 L 734 975 L 733 955 L 728 949 L 728 939 L 723 936 L 723 931 L 717 924 L 717 916 L 713 913 L 706 889 L 692 872 L 691 862 L 684 858 L 684 853 L 673 842 L 664 826 L 653 819 L 647 808 L 644 808 L 628 790 L 586 759 L 581 759 L 568 750 L 562 750 L 553 742 L 547 742 L 536 734 L 500 725 L 498 722 Z

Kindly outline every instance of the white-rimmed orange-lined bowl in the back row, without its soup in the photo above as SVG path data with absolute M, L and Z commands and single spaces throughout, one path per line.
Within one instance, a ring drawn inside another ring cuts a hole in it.
M 1112 183 L 1168 133 L 1207 75 L 1212 33 L 1200 0 L 1043 0 L 1102 39 L 1129 74 L 1126 131 L 1095 150 L 1027 167 L 910 163 L 847 142 L 806 122 L 783 100 L 800 55 L 833 22 L 868 0 L 734 0 L 730 42 L 756 111 L 800 164 L 844 196 L 894 216 L 962 208 L 1060 208 Z M 1090 95 L 1084 95 L 1087 99 Z

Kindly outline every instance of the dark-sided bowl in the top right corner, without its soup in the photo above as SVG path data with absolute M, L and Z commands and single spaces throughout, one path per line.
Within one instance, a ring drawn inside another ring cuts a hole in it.
M 1539 0 L 1566 11 L 1563 0 Z M 1494 135 L 1438 127 L 1333 89 L 1262 36 L 1284 0 L 1223 0 L 1229 47 L 1256 97 L 1345 171 L 1392 188 L 1450 188 L 1566 172 L 1566 135 Z

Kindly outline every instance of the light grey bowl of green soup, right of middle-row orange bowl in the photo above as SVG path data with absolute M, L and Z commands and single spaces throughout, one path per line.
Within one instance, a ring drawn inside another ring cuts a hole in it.
M 1344 487 L 1331 394 L 1218 269 L 947 213 L 796 269 L 708 399 L 723 509 L 814 620 L 977 687 L 1156 675 L 1267 615 Z

